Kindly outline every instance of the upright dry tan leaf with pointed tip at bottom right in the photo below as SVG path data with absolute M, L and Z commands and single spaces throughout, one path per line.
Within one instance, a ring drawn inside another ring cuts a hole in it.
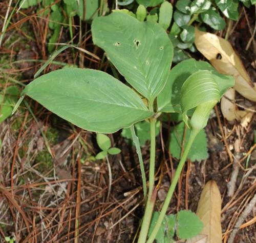
M 214 180 L 206 183 L 197 208 L 197 215 L 204 228 L 202 235 L 207 235 L 207 243 L 221 243 L 221 194 Z

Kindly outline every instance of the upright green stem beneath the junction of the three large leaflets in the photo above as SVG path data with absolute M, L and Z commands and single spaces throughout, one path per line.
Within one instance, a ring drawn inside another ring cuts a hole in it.
M 155 158 L 156 158 L 156 118 L 150 118 L 150 176 L 148 181 L 148 196 L 146 202 L 146 208 L 141 225 L 140 235 L 138 243 L 145 243 L 148 229 L 150 228 L 150 222 L 152 213 L 155 206 L 156 191 L 154 191 L 155 184 Z M 154 192 L 153 192 L 154 191 Z

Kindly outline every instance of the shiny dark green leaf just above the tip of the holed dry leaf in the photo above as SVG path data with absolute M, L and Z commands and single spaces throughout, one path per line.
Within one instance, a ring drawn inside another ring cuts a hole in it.
M 202 21 L 209 25 L 212 29 L 223 30 L 226 23 L 217 10 L 209 9 L 208 11 L 200 14 Z

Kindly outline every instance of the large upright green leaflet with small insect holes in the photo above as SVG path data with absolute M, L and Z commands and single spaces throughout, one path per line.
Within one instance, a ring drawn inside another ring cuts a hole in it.
M 97 17 L 93 42 L 139 93 L 153 102 L 163 89 L 173 58 L 173 46 L 156 23 L 140 22 L 120 12 Z

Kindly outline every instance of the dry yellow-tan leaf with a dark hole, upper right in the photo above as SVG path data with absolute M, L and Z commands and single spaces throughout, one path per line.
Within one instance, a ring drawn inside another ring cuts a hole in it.
M 251 82 L 243 63 L 227 40 L 196 28 L 195 45 L 220 73 L 234 76 L 236 91 L 256 102 L 256 86 Z

